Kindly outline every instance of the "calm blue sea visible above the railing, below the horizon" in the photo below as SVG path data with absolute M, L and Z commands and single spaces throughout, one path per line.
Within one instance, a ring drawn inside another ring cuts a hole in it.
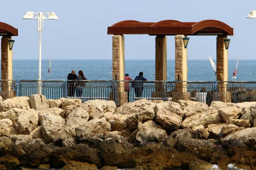
M 214 61 L 216 63 L 216 60 Z M 229 60 L 229 81 L 255 81 L 256 60 L 239 60 L 237 79 L 232 79 L 236 60 Z M 42 60 L 42 79 L 67 79 L 71 70 L 84 71 L 84 76 L 92 80 L 112 80 L 112 60 L 55 60 L 52 59 L 52 71 L 48 74 L 49 60 Z M 209 60 L 188 60 L 189 81 L 214 81 L 215 73 Z M 134 79 L 140 71 L 148 80 L 153 75 L 155 60 L 125 60 L 125 73 Z M 167 62 L 168 81 L 175 80 L 175 60 Z M 38 79 L 38 60 L 13 60 L 13 79 Z

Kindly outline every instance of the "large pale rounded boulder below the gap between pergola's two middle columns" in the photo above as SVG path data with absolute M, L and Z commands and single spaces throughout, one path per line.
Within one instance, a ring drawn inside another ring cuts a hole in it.
M 165 130 L 177 129 L 182 123 L 184 115 L 179 104 L 175 102 L 157 103 L 156 122 L 159 122 Z

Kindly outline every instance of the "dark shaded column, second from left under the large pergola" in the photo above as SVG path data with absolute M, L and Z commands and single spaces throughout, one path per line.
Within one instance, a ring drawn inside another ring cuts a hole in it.
M 156 81 L 167 80 L 167 38 L 166 36 L 158 36 L 155 39 L 156 56 L 155 56 L 155 73 Z M 156 91 L 152 93 L 152 97 L 163 97 L 163 83 L 156 82 Z

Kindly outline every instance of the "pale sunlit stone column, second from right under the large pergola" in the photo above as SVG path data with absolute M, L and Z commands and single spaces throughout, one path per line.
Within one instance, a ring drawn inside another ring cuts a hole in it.
M 175 36 L 175 81 L 187 81 L 187 48 L 184 48 L 183 37 Z M 190 92 L 187 92 L 187 82 L 176 82 L 175 92 L 172 92 L 172 100 L 190 100 Z

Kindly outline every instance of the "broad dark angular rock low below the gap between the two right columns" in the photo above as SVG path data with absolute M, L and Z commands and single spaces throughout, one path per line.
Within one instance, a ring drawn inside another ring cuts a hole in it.
M 203 139 L 189 139 L 178 136 L 177 151 L 189 152 L 196 155 L 199 159 L 209 161 L 215 145 L 212 142 Z

